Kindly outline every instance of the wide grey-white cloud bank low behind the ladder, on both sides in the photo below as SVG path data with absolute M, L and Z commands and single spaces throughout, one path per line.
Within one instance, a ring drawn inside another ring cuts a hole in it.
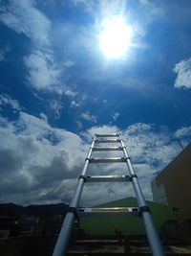
M 74 195 L 76 177 L 81 173 L 90 147 L 90 136 L 95 133 L 122 133 L 146 198 L 152 198 L 149 182 L 156 172 L 161 171 L 180 152 L 174 134 L 156 131 L 154 125 L 135 124 L 122 131 L 115 126 L 93 127 L 79 137 L 65 129 L 51 127 L 46 116 L 43 113 L 40 116 L 20 112 L 18 120 L 14 122 L 0 118 L 2 202 L 28 204 L 70 201 Z M 179 130 L 177 133 L 185 136 L 187 131 Z M 119 163 L 101 169 L 99 165 L 90 166 L 88 174 L 125 175 L 128 172 Z M 92 205 L 125 198 L 126 195 L 134 196 L 131 184 L 127 187 L 121 183 L 98 183 L 91 184 L 91 188 L 86 184 L 81 203 Z

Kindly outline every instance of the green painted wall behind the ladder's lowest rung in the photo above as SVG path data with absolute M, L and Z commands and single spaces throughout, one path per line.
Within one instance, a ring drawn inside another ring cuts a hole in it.
M 176 214 L 173 209 L 167 205 L 147 201 L 153 219 L 160 229 L 165 221 L 176 221 Z M 136 207 L 138 206 L 136 198 L 124 198 L 111 201 L 95 207 Z M 122 235 L 143 235 L 144 227 L 139 217 L 82 217 L 79 220 L 79 228 L 85 230 L 86 235 L 91 236 L 111 236 L 120 231 Z

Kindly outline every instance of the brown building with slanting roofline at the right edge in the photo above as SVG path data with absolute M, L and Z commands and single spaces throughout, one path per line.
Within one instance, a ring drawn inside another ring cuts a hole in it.
M 191 220 L 191 144 L 151 182 L 153 198 L 178 208 L 179 222 Z

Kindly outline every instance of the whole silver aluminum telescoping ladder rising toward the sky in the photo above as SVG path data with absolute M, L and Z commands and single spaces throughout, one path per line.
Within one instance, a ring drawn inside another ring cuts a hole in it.
M 112 143 L 112 144 L 111 144 Z M 97 147 L 97 144 L 114 145 L 119 144 L 120 146 L 107 146 L 107 147 Z M 112 158 L 93 158 L 92 154 L 94 151 L 123 151 L 123 157 L 112 157 Z M 92 163 L 119 163 L 124 162 L 127 165 L 129 175 L 99 175 L 99 176 L 89 176 L 86 175 L 89 164 Z M 122 208 L 78 208 L 79 199 L 83 190 L 83 185 L 85 182 L 118 182 L 118 181 L 130 181 L 133 184 L 136 198 L 138 200 L 138 207 L 122 207 Z M 96 134 L 93 138 L 92 145 L 89 149 L 87 158 L 85 159 L 85 164 L 82 169 L 81 175 L 78 177 L 78 183 L 74 193 L 74 198 L 71 201 L 68 213 L 63 222 L 62 228 L 60 230 L 57 242 L 53 250 L 53 256 L 64 256 L 67 254 L 68 244 L 70 242 L 71 233 L 73 230 L 74 220 L 77 216 L 83 214 L 138 214 L 141 217 L 145 232 L 147 235 L 148 242 L 152 254 L 154 256 L 165 255 L 162 245 L 159 240 L 159 234 L 155 227 L 152 219 L 151 211 L 144 199 L 140 185 L 138 183 L 138 176 L 135 174 L 133 166 L 131 164 L 130 157 L 127 153 L 126 147 L 124 146 L 123 140 L 120 134 Z

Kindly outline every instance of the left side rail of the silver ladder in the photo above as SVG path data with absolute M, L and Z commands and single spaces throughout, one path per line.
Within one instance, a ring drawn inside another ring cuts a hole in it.
M 72 199 L 69 207 L 70 211 L 66 214 L 65 220 L 62 224 L 59 236 L 57 238 L 56 244 L 53 249 L 53 256 L 65 256 L 67 254 L 68 244 L 70 242 L 70 238 L 73 230 L 74 219 L 75 219 L 75 215 L 77 214 L 77 206 L 78 206 L 78 202 L 81 197 L 83 185 L 85 182 L 83 176 L 86 175 L 86 172 L 88 170 L 89 161 L 90 161 L 89 159 L 91 158 L 93 148 L 95 146 L 95 141 L 96 141 L 96 135 L 94 136 L 94 139 L 90 147 L 90 150 L 88 152 L 88 156 L 85 160 L 85 164 L 82 169 L 81 175 L 78 178 L 78 183 L 74 193 L 74 198 Z

